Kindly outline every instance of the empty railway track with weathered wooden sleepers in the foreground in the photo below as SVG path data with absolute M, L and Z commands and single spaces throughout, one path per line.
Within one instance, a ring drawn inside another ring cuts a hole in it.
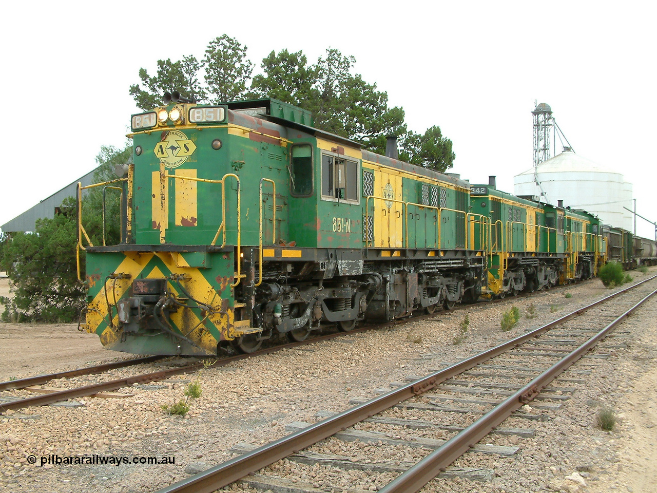
M 210 493 L 238 481 L 256 490 L 288 493 L 319 493 L 327 487 L 364 493 L 371 490 L 367 485 L 384 493 L 407 493 L 419 491 L 468 451 L 512 455 L 517 448 L 478 443 L 495 429 L 497 433 L 531 434 L 531 430 L 497 427 L 513 413 L 540 419 L 541 415 L 523 407 L 529 403 L 533 410 L 557 409 L 573 389 L 546 387 L 657 293 L 654 279 L 650 277 L 373 400 L 354 402 L 354 408 L 323 421 L 294 423 L 288 427 L 293 433 L 270 444 L 255 450 L 235 448 L 244 453 L 158 493 Z M 417 415 L 409 415 L 416 411 Z M 451 423 L 456 414 L 461 416 L 457 426 Z M 423 430 L 422 436 L 409 430 Z M 405 451 L 399 452 L 400 447 Z M 359 452 L 341 456 L 336 450 Z M 369 450 L 378 450 L 378 457 L 369 456 Z M 390 460 L 380 459 L 381 450 Z M 399 461 L 400 456 L 418 460 Z M 306 473 L 292 479 L 280 477 L 281 471 L 290 470 L 286 461 L 307 464 Z M 353 471 L 365 472 L 369 479 L 353 481 L 349 486 L 336 484 L 337 477 L 361 478 L 352 476 Z M 480 479 L 478 470 L 449 472 Z M 486 479 L 492 471 L 479 474 Z

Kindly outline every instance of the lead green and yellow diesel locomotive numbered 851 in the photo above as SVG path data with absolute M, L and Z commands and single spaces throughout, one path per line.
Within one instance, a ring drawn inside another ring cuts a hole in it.
M 174 97 L 131 127 L 124 176 L 91 185 L 124 192 L 122 242 L 91 245 L 78 227 L 83 327 L 106 348 L 252 352 L 450 308 L 489 283 L 491 223 L 469 183 L 397 160 L 396 145 L 371 153 L 274 99 Z

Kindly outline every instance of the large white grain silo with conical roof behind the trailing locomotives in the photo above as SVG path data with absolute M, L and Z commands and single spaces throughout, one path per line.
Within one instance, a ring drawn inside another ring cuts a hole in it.
M 545 193 L 543 197 L 541 189 Z M 583 158 L 568 147 L 563 153 L 516 175 L 514 193 L 535 195 L 550 204 L 563 200 L 564 206 L 585 209 L 600 216 L 605 224 L 632 231 L 631 214 L 623 209 L 628 199 L 631 202 L 631 183 L 625 182 L 621 173 Z

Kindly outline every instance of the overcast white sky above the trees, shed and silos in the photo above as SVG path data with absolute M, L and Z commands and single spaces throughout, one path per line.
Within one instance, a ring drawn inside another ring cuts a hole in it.
M 272 50 L 355 56 L 409 128 L 438 125 L 453 141 L 453 172 L 472 183 L 495 174 L 509 192 L 533 164 L 534 101 L 548 103 L 575 151 L 622 172 L 655 221 L 655 14 L 605 1 L 11 3 L 0 225 L 92 170 L 101 145 L 124 145 L 140 67 L 200 58 L 223 33 L 257 69 Z

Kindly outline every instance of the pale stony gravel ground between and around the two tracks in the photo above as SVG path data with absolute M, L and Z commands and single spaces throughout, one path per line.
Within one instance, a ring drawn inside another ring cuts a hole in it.
M 637 280 L 646 277 L 638 272 L 633 275 Z M 566 292 L 572 297 L 566 298 Z M 608 293 L 600 281 L 587 281 L 537 293 L 531 299 L 470 307 L 429 321 L 354 334 L 282 350 L 253 361 L 209 368 L 199 378 L 202 395 L 191 402 L 191 411 L 184 418 L 166 415 L 160 405 L 183 398 L 185 385 L 197 379 L 198 373 L 153 385 L 135 385 L 122 390 L 130 395 L 122 399 L 83 398 L 78 400 L 83 404 L 79 408 L 45 406 L 8 413 L 0 417 L 0 490 L 153 492 L 233 457 L 229 449 L 237 442 L 260 445 L 284 436 L 287 434 L 284 427 L 289 423 L 317 421 L 314 415 L 321 410 L 342 411 L 351 407 L 351 398 L 371 398 L 376 388 L 451 364 Z M 501 314 L 512 305 L 518 306 L 522 314 L 531 312 L 533 306 L 537 317 L 523 316 L 514 329 L 502 332 Z M 466 313 L 470 329 L 463 342 L 455 345 L 454 338 Z M 470 453 L 455 463 L 459 467 L 476 465 L 495 469 L 497 476 L 493 481 L 436 479 L 425 490 L 654 492 L 657 486 L 654 480 L 657 477 L 656 316 L 657 300 L 651 300 L 617 329 L 629 331 L 631 335 L 626 349 L 612 349 L 612 356 L 607 360 L 587 358 L 581 367 L 590 368 L 590 376 L 564 375 L 564 378 L 585 379 L 586 383 L 568 384 L 576 387 L 576 392 L 561 410 L 541 411 L 551 417 L 550 421 L 512 417 L 503 425 L 535 428 L 536 438 L 502 435 L 486 438 L 486 443 L 519 446 L 515 458 Z M 70 366 L 67 360 L 58 358 L 57 349 L 36 344 L 41 339 L 34 339 L 34 327 L 12 325 L 5 329 L 16 331 L 12 334 L 17 335 L 18 341 L 24 338 L 23 345 L 3 344 L 0 349 L 5 375 L 24 377 L 39 373 L 44 371 L 44 361 L 54 366 L 48 371 Z M 29 335 L 22 336 L 26 329 Z M 0 327 L 0 337 L 2 330 Z M 79 335 L 79 340 L 70 338 L 68 342 L 84 353 L 88 350 L 86 341 L 91 337 Z M 29 342 L 34 344 L 28 346 Z M 98 344 L 97 340 L 95 343 Z M 617 343 L 610 339 L 603 345 Z M 72 354 L 75 352 L 72 350 Z M 88 357 L 88 353 L 83 356 Z M 28 358 L 26 361 L 31 366 L 22 367 L 21 358 Z M 95 378 L 100 377 L 92 379 Z M 612 432 L 600 431 L 594 425 L 597 411 L 604 406 L 617 412 L 619 422 Z M 404 411 L 386 412 L 401 417 Z M 449 414 L 451 424 L 457 425 L 464 419 L 458 413 Z M 399 430 L 392 433 L 399 434 Z M 432 436 L 442 438 L 441 433 L 433 431 Z M 359 444 L 350 447 L 347 452 L 360 453 Z M 346 455 L 342 450 L 340 453 Z M 403 456 L 411 453 L 391 446 L 381 446 L 380 453 L 398 454 L 399 460 L 411 459 Z M 47 461 L 51 454 L 61 458 L 97 454 L 103 458 L 125 457 L 129 461 L 140 457 L 175 458 L 175 464 L 45 463 L 41 466 L 41 461 Z M 29 463 L 30 455 L 37 459 L 35 464 Z M 299 471 L 313 473 L 313 466 L 304 468 Z M 360 480 L 357 471 L 343 476 L 350 475 L 354 476 L 352 481 Z M 376 489 L 376 484 L 371 486 Z M 238 486 L 237 490 L 248 488 Z

